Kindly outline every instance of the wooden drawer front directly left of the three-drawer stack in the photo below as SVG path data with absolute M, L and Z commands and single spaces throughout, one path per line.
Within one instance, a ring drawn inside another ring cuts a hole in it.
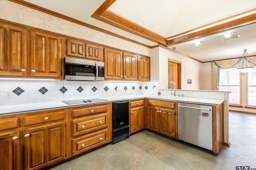
M 57 111 L 53 113 L 43 113 L 38 115 L 26 116 L 23 118 L 24 126 L 33 125 L 37 123 L 44 123 L 48 121 L 55 121 L 65 119 L 65 111 Z

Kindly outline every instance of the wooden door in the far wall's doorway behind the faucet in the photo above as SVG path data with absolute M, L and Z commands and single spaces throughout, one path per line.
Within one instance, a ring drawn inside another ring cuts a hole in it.
M 172 83 L 171 86 L 170 82 L 174 81 L 176 85 L 176 89 L 181 88 L 181 79 L 180 79 L 180 72 L 181 72 L 180 63 L 176 63 L 174 61 L 168 61 L 168 88 L 174 89 L 174 84 Z

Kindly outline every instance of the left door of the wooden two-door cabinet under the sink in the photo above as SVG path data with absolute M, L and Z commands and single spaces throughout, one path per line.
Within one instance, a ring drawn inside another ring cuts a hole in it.
M 146 113 L 146 121 L 148 129 L 159 132 L 160 120 L 158 107 L 148 106 L 148 111 Z

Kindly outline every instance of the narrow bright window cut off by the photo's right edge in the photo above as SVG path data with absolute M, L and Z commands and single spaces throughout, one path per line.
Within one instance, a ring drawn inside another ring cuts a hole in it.
M 248 72 L 247 77 L 247 106 L 256 106 L 256 69 L 252 69 L 252 72 Z

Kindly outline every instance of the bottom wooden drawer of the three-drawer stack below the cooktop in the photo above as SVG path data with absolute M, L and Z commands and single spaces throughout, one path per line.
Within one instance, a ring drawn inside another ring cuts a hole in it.
M 99 147 L 108 143 L 107 138 L 108 129 L 91 133 L 83 137 L 72 139 L 72 154 L 80 154 L 87 150 Z

